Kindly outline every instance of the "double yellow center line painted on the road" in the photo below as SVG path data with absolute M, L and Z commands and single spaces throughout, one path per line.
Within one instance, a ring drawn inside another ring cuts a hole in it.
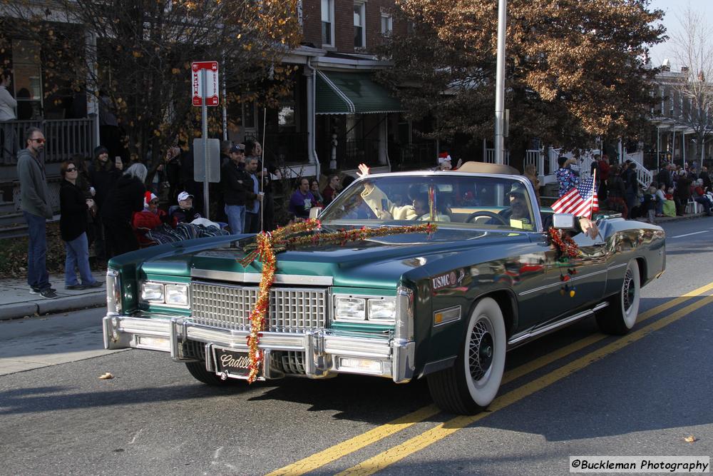
M 709 290 L 713 290 L 713 283 L 709 283 L 707 285 L 702 286 L 701 288 L 692 290 L 691 292 L 686 293 L 680 296 L 679 298 L 675 298 L 661 305 L 657 305 L 655 308 L 652 308 L 646 311 L 645 313 L 639 315 L 637 323 L 642 322 L 642 320 L 651 318 L 654 315 L 665 312 L 670 308 L 674 308 L 675 306 L 684 303 L 685 301 L 694 298 L 698 295 L 702 295 L 703 293 L 706 293 Z M 647 325 L 645 328 L 641 328 L 640 330 L 636 330 L 635 332 L 630 333 L 629 335 L 627 335 L 626 339 L 616 340 L 615 342 L 605 345 L 604 347 L 597 349 L 592 353 L 588 353 L 583 357 L 573 360 L 573 362 L 568 363 L 567 365 L 564 365 L 561 368 L 558 368 L 558 370 L 555 370 L 552 373 L 548 373 L 547 375 L 535 379 L 532 382 L 526 383 L 522 387 L 516 388 L 515 390 L 512 390 L 511 392 L 508 392 L 505 395 L 502 395 L 501 397 L 497 397 L 496 400 L 493 400 L 491 405 L 488 406 L 488 412 L 481 412 L 478 413 L 478 415 L 472 416 L 459 416 L 446 422 L 443 422 L 440 425 L 434 427 L 433 429 L 421 433 L 421 435 L 413 437 L 410 440 L 401 443 L 400 445 L 391 447 L 389 448 L 389 450 L 381 452 L 379 453 L 379 455 L 371 457 L 368 460 L 361 462 L 358 465 L 351 467 L 348 470 L 345 470 L 344 472 L 339 473 L 339 475 L 371 475 L 374 472 L 383 470 L 385 467 L 394 464 L 394 462 L 397 462 L 403 459 L 404 457 L 412 455 L 414 452 L 424 449 L 425 447 L 433 444 L 434 442 L 441 440 L 442 438 L 451 435 L 452 433 L 458 430 L 461 430 L 463 427 L 471 425 L 473 422 L 476 422 L 488 415 L 491 415 L 492 412 L 501 410 L 504 407 L 507 407 L 515 402 L 518 402 L 519 400 L 522 400 L 528 395 L 532 395 L 533 393 L 542 390 L 548 385 L 551 385 L 557 382 L 558 380 L 565 378 L 567 375 L 570 375 L 571 373 L 577 370 L 585 368 L 587 365 L 593 363 L 595 360 L 603 358 L 605 357 L 605 355 L 609 355 L 610 353 L 613 353 L 616 350 L 624 348 L 626 345 L 629 345 L 630 343 L 633 343 L 645 337 L 646 335 L 649 335 L 653 331 L 658 330 L 664 327 L 665 325 L 669 325 L 675 320 L 678 320 L 684 317 L 685 315 L 692 313 L 694 310 L 702 308 L 704 305 L 707 305 L 711 302 L 713 302 L 713 296 L 708 296 L 707 298 L 699 300 L 696 303 L 687 305 L 685 308 L 678 310 L 677 312 L 667 316 L 666 318 L 657 320 L 655 323 Z M 543 357 L 535 359 L 530 363 L 521 365 L 518 368 L 508 371 L 505 375 L 503 375 L 503 384 L 511 382 L 516 378 L 520 378 L 523 375 L 533 372 L 534 370 L 543 368 L 545 365 L 549 365 L 550 363 L 553 363 L 556 360 L 559 360 L 560 358 L 570 355 L 571 353 L 575 353 L 578 350 L 586 348 L 589 345 L 597 343 L 598 341 L 605 338 L 607 338 L 607 335 L 591 335 L 588 338 L 578 340 L 577 342 L 567 345 L 564 348 L 555 350 L 555 352 L 553 353 L 543 355 Z M 396 420 L 376 427 L 373 430 L 364 432 L 361 435 L 349 438 L 349 440 L 329 447 L 326 450 L 317 452 L 314 455 L 294 462 L 291 465 L 287 465 L 285 467 L 280 468 L 279 470 L 270 472 L 268 476 L 302 475 L 306 472 L 314 471 L 319 467 L 338 460 L 340 457 L 361 450 L 361 448 L 371 445 L 371 443 L 394 435 L 396 432 L 400 432 L 401 430 L 405 430 L 411 425 L 415 425 L 418 422 L 426 420 L 426 418 L 438 414 L 438 412 L 440 411 L 441 410 L 439 410 L 436 405 L 428 405 L 426 407 L 420 408 L 415 412 L 411 412 L 408 415 L 404 415 L 403 417 L 397 418 Z

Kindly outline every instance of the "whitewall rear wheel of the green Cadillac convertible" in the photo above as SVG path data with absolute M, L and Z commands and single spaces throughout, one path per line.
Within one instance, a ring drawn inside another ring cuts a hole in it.
M 625 335 L 635 325 L 639 314 L 641 283 L 639 264 L 631 260 L 624 273 L 622 288 L 609 305 L 597 314 L 597 325 L 603 333 Z

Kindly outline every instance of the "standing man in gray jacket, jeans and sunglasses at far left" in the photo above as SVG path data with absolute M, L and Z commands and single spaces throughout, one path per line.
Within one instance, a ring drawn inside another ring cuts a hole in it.
M 39 160 L 40 153 L 44 151 L 45 138 L 42 131 L 35 127 L 28 128 L 25 137 L 27 148 L 17 154 L 17 177 L 20 181 L 20 207 L 30 236 L 27 283 L 30 285 L 30 294 L 54 299 L 57 295 L 49 285 L 46 266 L 46 221 L 52 218 L 52 208 L 49 205 L 44 164 Z

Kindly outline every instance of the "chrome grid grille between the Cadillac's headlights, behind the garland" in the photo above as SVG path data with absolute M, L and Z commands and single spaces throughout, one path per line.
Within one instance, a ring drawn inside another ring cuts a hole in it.
M 250 329 L 257 287 L 194 281 L 190 285 L 193 322 L 231 330 Z M 268 328 L 272 332 L 297 333 L 324 328 L 327 322 L 327 290 L 272 288 Z

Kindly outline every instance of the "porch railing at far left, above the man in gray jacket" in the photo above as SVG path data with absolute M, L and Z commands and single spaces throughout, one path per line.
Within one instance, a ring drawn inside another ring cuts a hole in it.
M 0 127 L 2 163 L 16 163 L 18 151 L 25 148 L 27 128 L 41 129 L 47 140 L 45 143 L 45 163 L 65 161 L 75 155 L 91 158 L 94 148 L 95 118 L 43 119 L 36 121 L 8 121 Z

